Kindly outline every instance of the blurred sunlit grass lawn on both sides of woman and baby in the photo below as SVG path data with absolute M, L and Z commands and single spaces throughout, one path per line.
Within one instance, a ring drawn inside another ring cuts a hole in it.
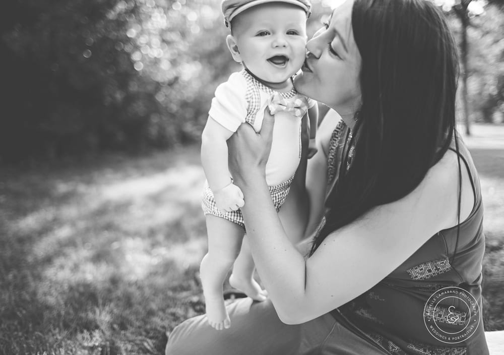
M 504 126 L 467 139 L 485 204 L 485 326 L 504 329 Z M 0 354 L 160 354 L 204 310 L 198 147 L 0 171 Z

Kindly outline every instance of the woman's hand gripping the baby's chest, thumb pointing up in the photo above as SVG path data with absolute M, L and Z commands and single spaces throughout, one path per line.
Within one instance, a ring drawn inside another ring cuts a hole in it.
M 260 133 L 250 125 L 242 124 L 227 140 L 229 171 L 238 186 L 260 176 L 265 180 L 274 124 L 275 117 L 266 108 Z

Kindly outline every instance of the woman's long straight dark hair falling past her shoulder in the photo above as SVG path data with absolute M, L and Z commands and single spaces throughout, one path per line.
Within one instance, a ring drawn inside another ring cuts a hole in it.
M 332 231 L 413 191 L 455 134 L 458 60 L 443 13 L 426 0 L 355 0 L 352 28 L 362 57 L 354 155 L 310 255 Z

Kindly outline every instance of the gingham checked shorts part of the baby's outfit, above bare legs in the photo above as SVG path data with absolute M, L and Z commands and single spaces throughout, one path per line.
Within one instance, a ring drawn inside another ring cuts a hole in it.
M 293 179 L 294 175 L 291 176 L 289 180 L 279 185 L 269 187 L 271 199 L 273 200 L 273 204 L 275 205 L 277 212 L 280 210 L 280 207 L 283 205 L 285 199 L 287 198 L 287 195 L 289 194 L 290 184 L 292 183 Z M 239 209 L 236 211 L 222 213 L 217 208 L 217 206 L 215 205 L 214 194 L 212 190 L 210 190 L 208 182 L 206 181 L 205 186 L 203 187 L 203 200 L 201 202 L 201 207 L 203 208 L 203 213 L 227 219 L 231 222 L 240 225 L 243 229 L 245 229 L 243 215 L 241 214 L 241 211 Z

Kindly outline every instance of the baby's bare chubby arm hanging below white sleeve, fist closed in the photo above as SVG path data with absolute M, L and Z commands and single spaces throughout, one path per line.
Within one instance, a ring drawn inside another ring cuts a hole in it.
M 222 212 L 236 211 L 244 205 L 243 194 L 232 184 L 228 168 L 226 141 L 232 135 L 209 116 L 201 137 L 201 163 L 217 208 Z

